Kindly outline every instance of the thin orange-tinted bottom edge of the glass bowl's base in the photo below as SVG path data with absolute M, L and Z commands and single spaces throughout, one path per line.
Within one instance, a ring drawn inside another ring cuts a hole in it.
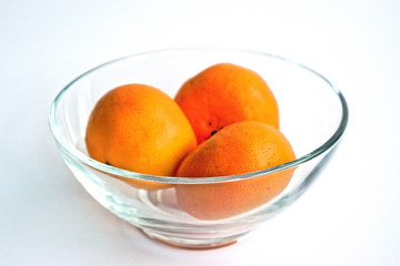
M 248 235 L 249 232 L 233 235 L 229 237 L 222 237 L 222 238 L 201 238 L 201 239 L 189 239 L 189 238 L 179 238 L 179 237 L 172 237 L 172 236 L 166 236 L 160 233 L 154 233 L 151 231 L 147 231 L 143 228 L 140 228 L 140 231 L 151 239 L 161 242 L 162 244 L 178 247 L 178 248 L 184 248 L 184 249 L 212 249 L 212 248 L 220 248 L 230 246 L 242 238 L 244 238 L 246 235 Z

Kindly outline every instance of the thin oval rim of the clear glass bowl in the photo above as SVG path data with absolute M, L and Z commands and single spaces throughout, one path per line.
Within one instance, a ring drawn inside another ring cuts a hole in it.
M 264 170 L 260 170 L 260 171 L 256 171 L 256 172 L 250 172 L 250 173 L 244 173 L 244 174 L 239 174 L 239 175 L 227 175 L 227 176 L 216 176 L 216 177 L 174 177 L 174 176 L 159 176 L 159 175 L 149 175 L 149 174 L 141 174 L 141 173 L 137 173 L 137 172 L 131 172 L 128 170 L 122 170 L 122 168 L 118 168 L 108 164 L 103 164 L 100 163 L 91 157 L 89 157 L 88 155 L 86 155 L 84 153 L 82 153 L 81 151 L 79 151 L 78 149 L 76 149 L 70 142 L 68 142 L 66 140 L 66 137 L 60 133 L 60 131 L 58 130 L 58 125 L 57 125 L 57 120 L 56 120 L 56 112 L 57 112 L 57 108 L 58 108 L 58 102 L 61 100 L 62 95 L 68 91 L 69 88 L 71 88 L 76 82 L 78 82 L 79 80 L 83 79 L 84 76 L 87 76 L 88 74 L 106 68 L 110 64 L 120 62 L 120 61 L 124 61 L 124 60 L 129 60 L 132 58 L 139 58 L 139 57 L 146 57 L 146 55 L 153 55 L 153 54 L 160 54 L 160 53 L 171 53 L 171 52 L 196 52 L 196 51 L 224 51 L 224 52 L 237 52 L 237 53 L 249 53 L 249 54 L 256 54 L 256 55 L 262 55 L 262 57 L 267 57 L 267 58 L 272 58 L 272 59 L 277 59 L 280 61 L 284 61 L 287 63 L 290 64 L 294 64 L 296 66 L 299 66 L 303 70 L 307 70 L 309 72 L 311 72 L 312 74 L 316 74 L 317 76 L 319 76 L 320 79 L 322 79 L 326 83 L 328 83 L 328 85 L 333 90 L 333 92 L 337 94 L 337 96 L 340 100 L 341 103 L 341 108 L 342 108 L 342 116 L 341 116 L 341 121 L 339 123 L 338 129 L 334 131 L 334 133 L 320 146 L 318 146 L 317 149 L 314 149 L 313 151 L 311 151 L 310 153 L 307 153 L 306 155 L 298 157 L 293 161 L 290 161 L 288 163 L 284 164 L 280 164 L 273 167 L 269 167 L 269 168 L 264 168 Z M 68 83 L 54 98 L 54 100 L 51 103 L 50 106 L 50 112 L 49 112 L 49 126 L 50 126 L 50 131 L 56 140 L 57 145 L 59 146 L 60 150 L 62 150 L 63 152 L 66 152 L 69 156 L 73 157 L 74 160 L 80 161 L 81 163 L 99 170 L 101 172 L 104 172 L 107 174 L 111 174 L 111 175 L 118 175 L 124 178 L 131 178 L 131 180 L 140 180 L 140 181 L 144 181 L 144 182 L 157 182 L 157 183 L 168 183 L 168 184 L 209 184 L 209 183 L 222 183 L 222 182 L 232 182 L 232 181 L 238 181 L 238 180 L 247 180 L 247 178 L 252 178 L 252 177 L 257 177 L 257 176 L 261 176 L 261 175 L 267 175 L 267 174 L 271 174 L 271 173 L 276 173 L 276 172 L 280 172 L 283 170 L 288 170 L 288 168 L 292 168 L 292 167 L 297 167 L 314 157 L 318 157 L 320 154 L 323 154 L 324 152 L 327 152 L 328 150 L 330 150 L 331 147 L 333 147 L 341 139 L 341 136 L 344 133 L 344 130 L 347 127 L 348 124 L 348 120 L 349 120 L 349 109 L 348 109 L 348 104 L 347 101 L 343 96 L 343 94 L 341 93 L 341 91 L 324 75 L 320 74 L 319 72 L 317 72 L 316 70 L 301 64 L 299 62 L 292 61 L 290 59 L 280 57 L 280 55 L 276 55 L 276 54 L 271 54 L 271 53 L 266 53 L 266 52 L 259 52 L 259 51 L 253 51 L 253 50 L 247 50 L 247 49 L 232 49 L 232 48 L 168 48 L 168 49 L 160 49 L 160 50 L 152 50 L 152 51 L 146 51 L 146 52 L 139 52 L 139 53 L 133 53 L 130 55 L 126 55 L 126 57 L 121 57 L 111 61 L 108 61 L 106 63 L 99 64 L 90 70 L 88 70 L 87 72 L 82 73 L 81 75 L 79 75 L 78 78 L 76 78 L 74 80 L 72 80 L 70 83 Z

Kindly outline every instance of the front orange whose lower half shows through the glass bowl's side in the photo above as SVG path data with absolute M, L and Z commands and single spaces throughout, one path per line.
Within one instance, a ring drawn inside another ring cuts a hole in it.
M 253 121 L 238 122 L 223 127 L 193 150 L 180 164 L 177 176 L 237 175 L 294 158 L 290 143 L 276 127 Z M 199 219 L 231 217 L 272 200 L 287 187 L 293 171 L 289 168 L 226 183 L 178 185 L 178 203 Z

